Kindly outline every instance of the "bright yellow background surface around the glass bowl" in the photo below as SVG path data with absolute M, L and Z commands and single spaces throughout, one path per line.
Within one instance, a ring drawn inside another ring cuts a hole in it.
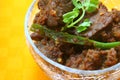
M 111 1 L 104 3 L 109 8 L 120 7 L 120 0 Z M 31 2 L 0 1 L 0 80 L 49 80 L 35 63 L 25 41 L 24 18 Z

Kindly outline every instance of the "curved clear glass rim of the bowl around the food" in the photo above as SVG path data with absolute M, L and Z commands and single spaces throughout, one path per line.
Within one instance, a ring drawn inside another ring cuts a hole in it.
M 31 4 L 30 8 L 28 9 L 28 12 L 26 14 L 26 18 L 25 18 L 25 35 L 27 40 L 30 42 L 30 45 L 32 45 L 32 47 L 34 48 L 35 52 L 42 57 L 46 62 L 54 65 L 55 67 L 70 72 L 70 73 L 75 73 L 75 74 L 83 74 L 83 75 L 98 75 L 98 74 L 102 74 L 108 71 L 112 71 L 112 70 L 118 70 L 120 68 L 120 63 L 109 67 L 109 68 L 105 68 L 103 70 L 79 70 L 79 69 L 74 69 L 74 68 L 70 68 L 64 65 L 61 65 L 57 62 L 52 61 L 51 59 L 49 59 L 48 57 L 46 57 L 43 53 L 41 53 L 39 51 L 39 49 L 35 46 L 34 42 L 32 41 L 31 37 L 30 37 L 30 31 L 29 31 L 29 26 L 31 26 L 34 16 L 35 14 L 38 12 L 38 8 L 37 8 L 37 1 L 38 0 L 34 0 L 33 3 Z

